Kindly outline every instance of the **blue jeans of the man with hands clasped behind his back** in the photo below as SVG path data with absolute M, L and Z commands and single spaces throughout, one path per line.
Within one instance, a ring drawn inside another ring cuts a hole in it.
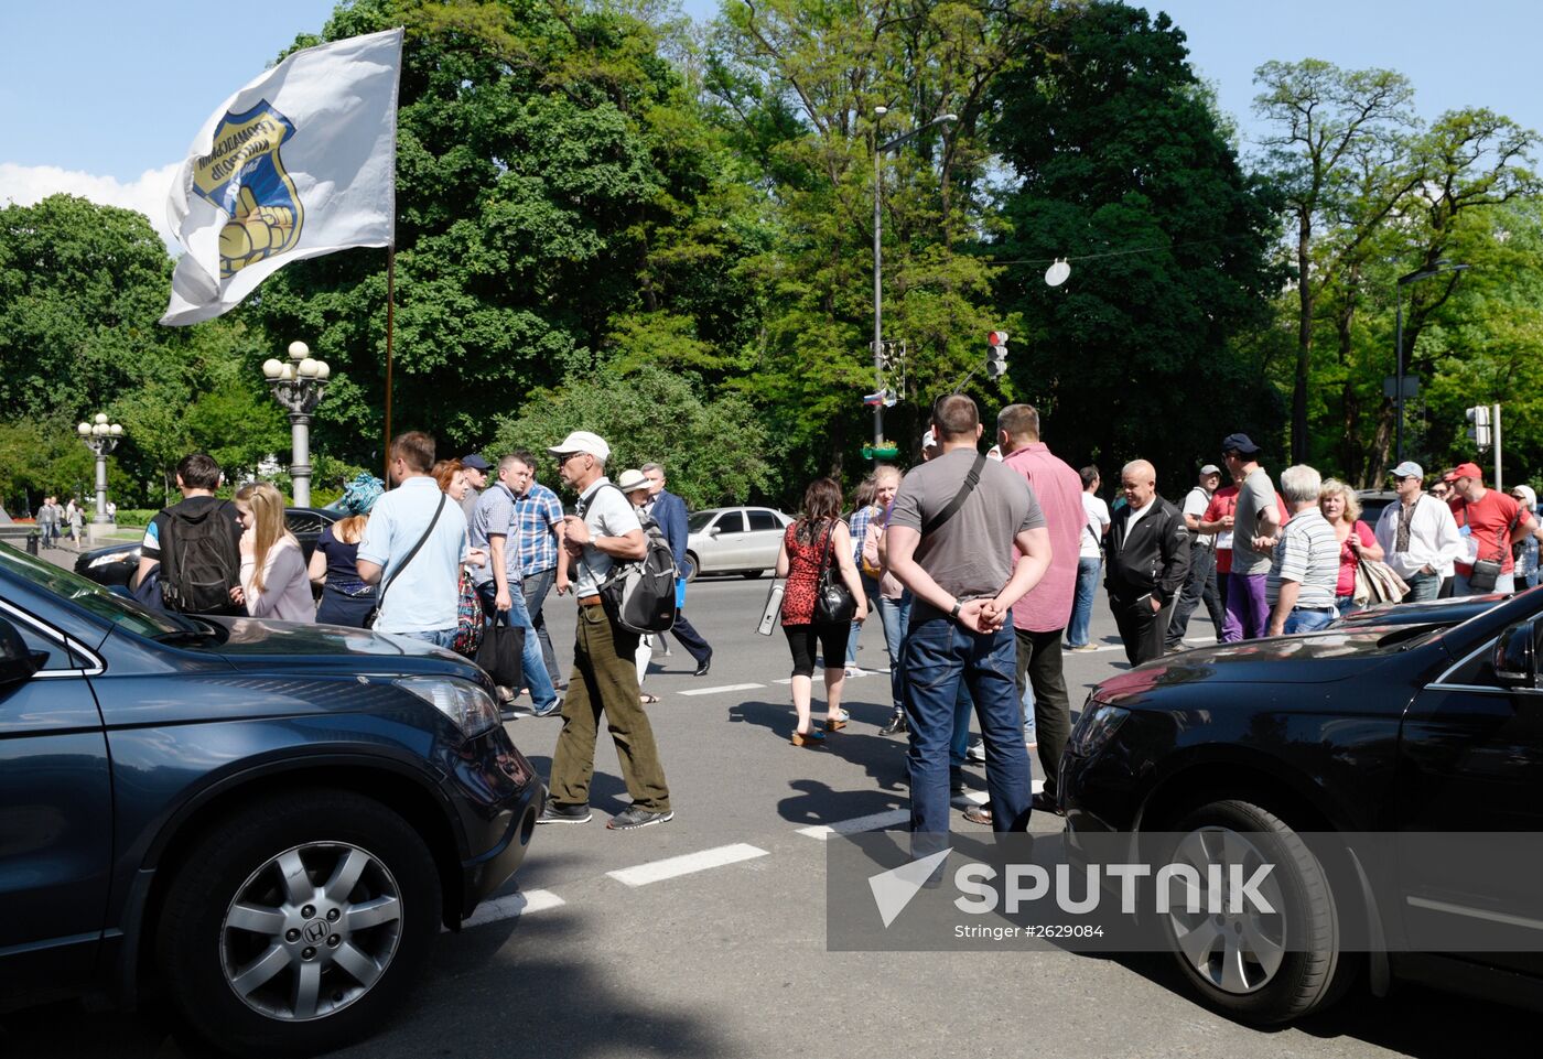
M 1023 746 L 1023 712 L 1012 678 L 1017 647 L 1012 628 L 972 633 L 932 607 L 912 611 L 906 633 L 906 716 L 910 746 L 910 829 L 921 838 L 917 854 L 943 848 L 949 831 L 949 744 L 960 684 L 969 689 L 986 741 L 986 787 L 992 831 L 1025 831 L 1029 821 L 1029 755 Z

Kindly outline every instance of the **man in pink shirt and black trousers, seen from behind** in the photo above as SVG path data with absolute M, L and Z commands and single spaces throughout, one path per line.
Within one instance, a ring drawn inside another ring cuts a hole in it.
M 1034 795 L 1034 807 L 1058 814 L 1055 772 L 1071 733 L 1062 638 L 1071 621 L 1077 545 L 1086 522 L 1082 475 L 1040 442 L 1040 414 L 1031 404 L 1001 409 L 997 442 L 1003 465 L 1021 474 L 1038 499 L 1051 534 L 1051 565 L 1040 584 L 1012 605 L 1012 631 L 1018 641 L 1018 698 L 1026 684 L 1034 685 L 1034 727 L 1045 770 L 1045 790 Z

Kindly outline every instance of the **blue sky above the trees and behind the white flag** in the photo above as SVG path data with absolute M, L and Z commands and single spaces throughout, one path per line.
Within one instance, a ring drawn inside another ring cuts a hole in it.
M 717 0 L 684 0 L 697 19 Z M 1535 0 L 1167 0 L 1191 62 L 1262 136 L 1253 69 L 1325 59 L 1407 74 L 1426 119 L 1480 105 L 1543 128 L 1531 83 L 1543 15 Z M 164 227 L 171 170 L 193 134 L 332 0 L 0 0 L 0 204 L 59 190 L 143 210 Z

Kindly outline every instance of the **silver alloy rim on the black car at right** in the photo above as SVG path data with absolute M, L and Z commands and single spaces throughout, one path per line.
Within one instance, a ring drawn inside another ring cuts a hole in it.
M 1177 875 L 1168 880 L 1168 929 L 1185 960 L 1204 982 L 1233 996 L 1258 993 L 1275 980 L 1285 959 L 1285 897 L 1271 871 L 1258 892 L 1275 909 L 1264 912 L 1234 894 L 1233 866 L 1248 880 L 1267 860 L 1245 835 L 1227 827 L 1200 827 L 1185 835 L 1174 864 L 1199 874 L 1199 886 Z M 1221 868 L 1217 878 L 1210 871 Z M 1199 911 L 1191 902 L 1199 898 Z M 1236 902 L 1234 902 L 1236 898 Z

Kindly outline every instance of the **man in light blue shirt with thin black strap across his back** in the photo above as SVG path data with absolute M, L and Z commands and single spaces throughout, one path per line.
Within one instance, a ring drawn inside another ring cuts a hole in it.
M 381 585 L 376 633 L 398 633 L 449 648 L 455 642 L 466 516 L 429 475 L 434 438 L 421 431 L 390 443 L 398 483 L 370 508 L 360 539 L 360 580 Z M 418 542 L 423 542 L 418 546 Z M 417 554 L 414 548 L 418 546 Z

